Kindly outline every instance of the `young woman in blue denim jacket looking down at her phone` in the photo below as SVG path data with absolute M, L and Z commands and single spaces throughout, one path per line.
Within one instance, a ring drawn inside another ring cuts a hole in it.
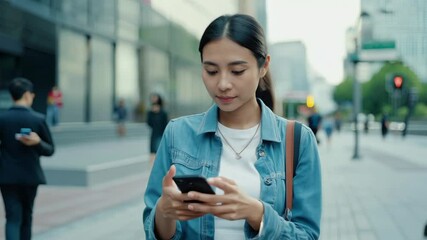
M 262 28 L 247 15 L 221 16 L 205 30 L 199 52 L 203 82 L 215 104 L 168 124 L 145 192 L 146 238 L 317 239 L 320 161 L 306 126 L 292 218 L 285 220 L 287 120 L 263 100 L 273 106 Z M 216 194 L 181 193 L 173 177 L 182 175 L 207 178 Z

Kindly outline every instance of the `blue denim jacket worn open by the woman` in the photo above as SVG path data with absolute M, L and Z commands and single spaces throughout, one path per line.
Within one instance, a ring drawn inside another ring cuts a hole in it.
M 320 160 L 315 137 L 308 127 L 301 129 L 299 160 L 294 176 L 292 219 L 284 219 L 285 133 L 287 121 L 275 115 L 261 100 L 261 142 L 255 167 L 260 174 L 260 201 L 264 205 L 261 232 L 246 222 L 246 239 L 318 239 L 321 214 Z M 218 106 L 207 112 L 171 120 L 157 151 L 145 191 L 143 222 L 147 239 L 154 233 L 155 209 L 162 194 L 162 179 L 170 166 L 176 175 L 218 176 L 222 143 L 215 135 Z M 214 239 L 214 216 L 207 214 L 189 221 L 177 221 L 172 239 Z

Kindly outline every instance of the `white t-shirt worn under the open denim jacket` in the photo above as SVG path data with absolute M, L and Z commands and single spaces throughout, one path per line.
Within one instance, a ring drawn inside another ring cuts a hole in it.
M 242 151 L 255 135 L 247 148 L 240 154 L 242 158 L 236 159 L 236 154 L 225 142 L 223 136 L 219 132 L 216 133 L 222 140 L 219 176 L 233 179 L 241 191 L 259 199 L 261 185 L 255 161 L 257 160 L 256 149 L 261 139 L 261 130 L 258 125 L 249 129 L 232 129 L 220 123 L 218 123 L 218 129 L 237 152 Z M 217 188 L 216 194 L 223 194 L 223 191 Z M 245 239 L 244 224 L 245 220 L 229 221 L 215 217 L 215 239 Z

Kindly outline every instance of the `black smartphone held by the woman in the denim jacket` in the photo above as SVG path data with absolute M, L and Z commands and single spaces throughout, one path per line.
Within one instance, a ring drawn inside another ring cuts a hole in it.
M 212 187 L 206 181 L 206 178 L 201 176 L 175 176 L 173 177 L 176 185 L 182 193 L 196 191 L 200 193 L 215 194 Z M 190 201 L 189 201 L 190 202 Z

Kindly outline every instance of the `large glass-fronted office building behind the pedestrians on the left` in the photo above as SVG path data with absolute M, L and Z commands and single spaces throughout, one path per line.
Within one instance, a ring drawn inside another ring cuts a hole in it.
M 172 117 L 205 110 L 198 38 L 139 0 L 0 0 L 0 108 L 17 76 L 35 83 L 33 108 L 63 92 L 61 122 L 111 121 L 118 99 L 143 121 L 148 96 Z M 178 107 L 179 106 L 179 107 Z

